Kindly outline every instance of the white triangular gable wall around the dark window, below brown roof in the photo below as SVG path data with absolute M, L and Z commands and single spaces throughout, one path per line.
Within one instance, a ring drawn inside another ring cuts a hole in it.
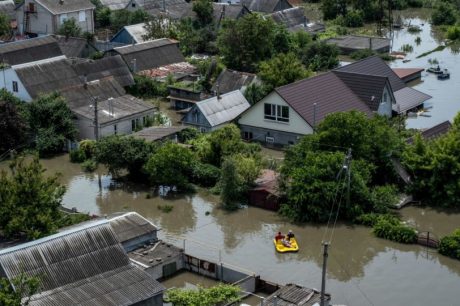
M 278 122 L 264 119 L 264 104 L 277 104 L 289 107 L 289 122 Z M 270 130 L 283 131 L 295 134 L 312 134 L 311 126 L 294 111 L 276 92 L 272 92 L 267 97 L 253 105 L 238 120 L 241 125 L 249 125 Z

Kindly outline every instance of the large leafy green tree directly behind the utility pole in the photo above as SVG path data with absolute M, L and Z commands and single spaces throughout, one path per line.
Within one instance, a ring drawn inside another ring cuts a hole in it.
M 286 156 L 290 158 L 292 156 Z M 286 202 L 280 212 L 300 222 L 324 222 L 328 220 L 331 207 L 341 203 L 339 218 L 353 220 L 373 210 L 370 201 L 370 174 L 372 166 L 364 161 L 351 163 L 350 204 L 345 200 L 346 180 L 343 168 L 345 155 L 341 152 L 307 151 L 301 160 L 288 160 L 281 173 L 282 192 Z M 299 166 L 291 167 L 291 164 Z

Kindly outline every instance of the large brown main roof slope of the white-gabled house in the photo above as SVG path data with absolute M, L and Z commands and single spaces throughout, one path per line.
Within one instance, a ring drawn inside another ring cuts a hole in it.
M 333 72 L 278 87 L 275 91 L 310 126 L 321 122 L 326 115 L 334 112 L 358 110 L 368 115 L 372 114 L 370 108 Z

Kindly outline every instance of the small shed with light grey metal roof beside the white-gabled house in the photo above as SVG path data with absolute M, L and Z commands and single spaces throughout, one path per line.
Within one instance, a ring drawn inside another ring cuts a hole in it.
M 249 107 L 241 91 L 234 90 L 196 103 L 182 118 L 182 123 L 210 132 L 235 120 Z

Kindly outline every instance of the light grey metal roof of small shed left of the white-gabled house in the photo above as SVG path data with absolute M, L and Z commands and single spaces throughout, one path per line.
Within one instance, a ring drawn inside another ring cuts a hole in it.
M 196 103 L 196 107 L 212 127 L 232 121 L 250 106 L 239 90 L 220 95 L 220 99 L 212 97 Z

